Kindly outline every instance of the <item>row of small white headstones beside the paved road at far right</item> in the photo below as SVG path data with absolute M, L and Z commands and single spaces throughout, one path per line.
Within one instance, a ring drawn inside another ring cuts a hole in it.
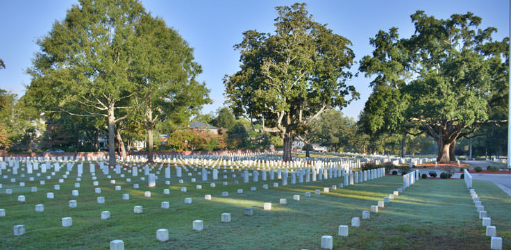
M 502 238 L 496 237 L 496 226 L 492 226 L 492 218 L 488 217 L 487 211 L 485 211 L 485 206 L 483 206 L 483 202 L 480 201 L 480 197 L 476 193 L 476 190 L 472 188 L 472 175 L 464 169 L 464 181 L 467 184 L 467 188 L 469 188 L 470 195 L 472 197 L 472 201 L 474 201 L 474 206 L 476 206 L 477 212 L 479 213 L 479 219 L 483 220 L 483 226 L 486 227 L 486 236 L 491 237 L 490 240 L 490 249 L 502 249 Z

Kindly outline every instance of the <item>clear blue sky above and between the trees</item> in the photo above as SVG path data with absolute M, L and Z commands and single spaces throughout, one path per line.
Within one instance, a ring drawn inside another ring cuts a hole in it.
M 213 104 L 205 106 L 203 113 L 215 111 L 224 104 L 225 74 L 239 69 L 240 54 L 233 45 L 241 42 L 242 32 L 256 29 L 260 32 L 274 31 L 275 6 L 290 6 L 295 1 L 165 1 L 146 0 L 142 4 L 154 16 L 165 19 L 194 47 L 196 61 L 203 67 L 199 81 L 206 82 L 211 90 Z M 66 15 L 74 0 L 17 0 L 0 1 L 0 58 L 6 69 L 0 70 L 0 88 L 18 95 L 31 81 L 24 72 L 31 66 L 33 54 L 39 48 L 35 40 L 46 35 L 53 22 Z M 414 32 L 410 15 L 416 10 L 425 10 L 427 15 L 448 18 L 453 13 L 474 12 L 483 18 L 481 28 L 494 26 L 501 40 L 509 35 L 508 0 L 424 0 L 424 1 L 305 1 L 308 11 L 316 22 L 328 24 L 334 33 L 353 42 L 355 60 L 372 51 L 369 38 L 379 30 L 387 31 L 392 26 L 399 28 L 401 36 L 409 37 Z M 358 69 L 358 65 L 353 70 Z M 360 100 L 352 102 L 342 111 L 357 119 L 360 110 L 371 94 L 369 78 L 360 74 L 350 83 L 360 92 Z

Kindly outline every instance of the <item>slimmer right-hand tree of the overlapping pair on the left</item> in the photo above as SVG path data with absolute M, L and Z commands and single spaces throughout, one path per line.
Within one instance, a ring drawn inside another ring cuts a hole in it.
M 137 27 L 135 81 L 140 92 L 136 108 L 147 131 L 148 160 L 153 161 L 153 129 L 165 119 L 188 120 L 203 104 L 209 90 L 196 81 L 202 72 L 193 49 L 163 19 L 142 18 Z

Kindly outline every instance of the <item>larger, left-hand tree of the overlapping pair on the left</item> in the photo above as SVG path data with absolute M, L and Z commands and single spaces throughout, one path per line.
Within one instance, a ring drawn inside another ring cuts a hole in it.
M 143 88 L 140 49 L 150 41 L 139 31 L 147 19 L 135 0 L 80 0 L 37 40 L 40 51 L 28 69 L 26 96 L 35 108 L 106 119 L 110 165 L 115 126 L 133 111 L 131 99 Z

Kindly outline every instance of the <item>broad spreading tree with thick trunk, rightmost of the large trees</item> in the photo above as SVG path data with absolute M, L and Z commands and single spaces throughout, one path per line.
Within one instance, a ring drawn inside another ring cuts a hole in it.
M 360 119 L 371 135 L 427 133 L 446 163 L 456 140 L 505 117 L 490 114 L 507 108 L 508 38 L 492 40 L 496 29 L 479 28 L 471 12 L 435 19 L 419 10 L 411 17 L 410 38 L 399 38 L 397 28 L 371 38 L 375 49 L 360 71 L 376 75 L 374 92 Z

